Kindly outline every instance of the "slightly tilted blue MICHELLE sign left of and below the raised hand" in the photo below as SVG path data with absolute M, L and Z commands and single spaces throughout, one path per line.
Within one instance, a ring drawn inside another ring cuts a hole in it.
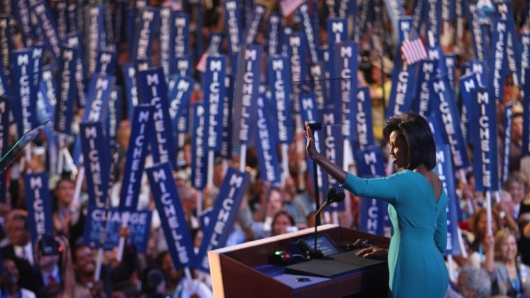
M 275 137 L 271 135 L 272 118 L 270 117 L 268 100 L 259 96 L 257 100 L 257 156 L 259 172 L 262 179 L 273 186 L 280 185 L 280 163 Z

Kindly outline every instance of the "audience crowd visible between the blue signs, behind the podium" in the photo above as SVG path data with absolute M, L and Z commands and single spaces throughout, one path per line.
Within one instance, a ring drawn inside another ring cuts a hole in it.
M 171 4 L 152 2 L 153 6 Z M 217 1 L 213 2 L 215 3 L 211 3 L 211 6 L 204 4 L 204 40 L 207 40 L 210 32 L 224 31 L 222 5 Z M 279 10 L 275 1 L 262 2 L 269 10 Z M 324 7 L 324 1 L 317 2 Z M 514 1 L 518 32 L 528 29 L 522 24 L 523 2 Z M 52 8 L 55 5 L 50 3 Z M 191 13 L 188 6 L 183 9 Z M 268 14 L 264 20 L 267 20 L 267 17 Z M 324 38 L 324 14 L 321 19 L 320 33 L 325 44 L 327 38 Z M 285 18 L 284 22 L 295 28 L 301 27 L 301 20 L 296 13 Z M 390 27 L 387 17 L 384 25 Z M 22 47 L 22 29 L 15 26 L 14 30 L 13 44 L 15 47 Z M 445 36 L 454 35 L 454 27 L 448 26 L 446 30 L 448 31 L 445 31 Z M 257 43 L 266 43 L 265 31 L 259 31 Z M 390 75 L 394 51 L 381 55 L 380 50 L 395 46 L 392 45 L 391 31 L 368 28 L 359 38 L 359 85 L 370 87 L 373 134 L 385 154 L 385 162 L 392 162 L 389 156 L 392 146 L 383 137 L 382 126 L 391 89 Z M 384 36 L 377 36 L 378 33 Z M 456 41 L 454 38 L 447 38 L 451 41 L 445 40 L 443 44 L 444 52 L 457 53 L 456 77 L 461 75 L 462 66 L 473 58 L 469 50 L 470 36 L 471 32 L 464 30 L 464 38 Z M 124 41 L 125 43 L 117 48 L 119 69 L 131 60 L 127 53 L 127 40 Z M 154 45 L 152 62 L 157 66 L 157 43 Z M 116 75 L 117 84 L 122 84 L 122 73 L 116 71 Z M 524 163 L 522 156 L 523 126 L 529 124 L 523 124 L 522 87 L 515 86 L 508 76 L 504 89 L 504 98 L 497 103 L 499 140 L 504 133 L 503 108 L 508 103 L 513 103 L 514 106 L 508 179 L 499 192 L 500 200 L 494 200 L 492 233 L 487 230 L 485 195 L 475 191 L 473 170 L 468 169 L 466 177 L 459 177 L 456 181 L 457 198 L 462 211 L 458 223 L 462 252 L 461 255 L 453 256 L 454 262 L 446 264 L 447 270 L 454 276 L 447 288 L 446 297 L 530 297 L 530 168 L 528 163 Z M 192 101 L 200 101 L 201 94 L 201 87 L 196 84 Z M 126 105 L 123 110 L 127 112 Z M 74 115 L 73 127 L 78 126 L 82 114 L 83 109 L 79 108 Z M 247 151 L 245 161 L 239 161 L 237 154 L 230 160 L 217 157 L 213 168 L 213 186 L 201 193 L 191 186 L 192 141 L 191 137 L 187 136 L 178 156 L 175 156 L 179 158 L 180 167 L 174 169 L 173 178 L 196 250 L 199 249 L 203 238 L 203 227 L 196 212 L 198 200 L 201 200 L 201 209 L 213 206 L 220 191 L 226 164 L 238 168 L 239 163 L 245 163 L 245 169 L 250 174 L 250 186 L 244 195 L 227 246 L 315 226 L 315 193 L 309 171 L 312 165 L 308 164 L 303 145 L 303 128 L 294 130 L 293 134 L 294 141 L 289 144 L 287 152 L 289 172 L 285 174 L 279 186 L 271 185 L 264 177 L 260 177 L 257 150 L 251 147 Z M 116 136 L 120 166 L 110 195 L 113 207 L 117 207 L 120 201 L 123 167 L 130 135 L 131 123 L 124 117 Z M 6 191 L 7 198 L 6 202 L 0 203 L 0 252 L 3 267 L 0 274 L 1 297 L 212 297 L 211 280 L 207 273 L 193 269 L 186 272 L 185 269 L 174 268 L 162 231 L 161 219 L 145 177 L 142 181 L 139 205 L 153 214 L 147 251 L 137 253 L 129 241 L 126 241 L 120 261 L 117 248 L 105 251 L 100 278 L 94 279 L 97 269 L 96 250 L 83 241 L 83 230 L 87 222 L 86 182 L 81 186 L 79 200 L 76 200 L 74 194 L 78 168 L 65 166 L 51 172 L 50 161 L 55 159 L 50 157 L 52 151 L 48 150 L 50 142 L 46 137 L 43 133 L 39 135 L 27 149 L 31 154 L 22 154 L 6 171 L 7 189 L 1 191 Z M 15 140 L 17 136 L 11 130 L 10 141 L 13 143 Z M 73 151 L 73 146 L 73 143 L 66 144 L 70 152 Z M 471 153 L 471 147 L 468 149 Z M 27 156 L 31 158 L 28 159 Z M 354 168 L 354 165 L 351 166 Z M 28 214 L 24 200 L 26 188 L 23 177 L 24 174 L 36 172 L 49 174 L 54 233 L 33 243 L 29 232 L 31 214 Z M 343 227 L 359 229 L 361 200 L 361 197 L 348 193 L 345 211 L 339 211 L 337 216 L 324 214 L 322 223 L 336 223 Z M 127 227 L 120 229 L 120 236 L 126 239 L 130 233 Z M 50 247 L 59 249 L 50 253 Z

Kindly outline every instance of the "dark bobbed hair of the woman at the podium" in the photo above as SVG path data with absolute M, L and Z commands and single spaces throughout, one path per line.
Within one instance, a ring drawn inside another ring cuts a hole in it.
M 425 165 L 432 170 L 436 165 L 436 144 L 429 122 L 420 114 L 406 112 L 394 116 L 385 122 L 382 133 L 389 140 L 390 133 L 400 131 L 407 141 L 408 163 L 406 169 L 414 170 L 418 165 Z

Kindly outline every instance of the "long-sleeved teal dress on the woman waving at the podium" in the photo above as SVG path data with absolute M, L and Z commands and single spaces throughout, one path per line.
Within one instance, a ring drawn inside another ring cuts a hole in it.
M 348 174 L 343 187 L 389 203 L 394 229 L 388 252 L 392 297 L 444 297 L 449 284 L 442 255 L 447 244 L 445 191 L 436 202 L 429 181 L 410 170 L 376 179 Z

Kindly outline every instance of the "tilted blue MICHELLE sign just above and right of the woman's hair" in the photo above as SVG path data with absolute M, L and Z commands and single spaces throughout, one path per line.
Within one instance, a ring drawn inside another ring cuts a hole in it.
M 447 75 L 437 75 L 429 82 L 432 96 L 433 110 L 438 123 L 443 129 L 443 139 L 451 147 L 452 161 L 457 170 L 469 166 L 464 135 L 460 128 L 460 119 L 457 106 L 454 103 L 454 94 L 447 79 Z

